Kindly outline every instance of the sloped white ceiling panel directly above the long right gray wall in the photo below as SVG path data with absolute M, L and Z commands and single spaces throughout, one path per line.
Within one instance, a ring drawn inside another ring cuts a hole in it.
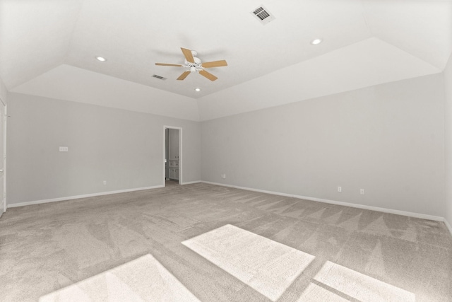
M 441 73 L 371 37 L 198 99 L 201 121 Z

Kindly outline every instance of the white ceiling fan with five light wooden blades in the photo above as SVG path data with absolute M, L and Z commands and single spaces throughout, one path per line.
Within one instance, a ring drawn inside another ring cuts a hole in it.
M 201 76 L 206 77 L 210 81 L 215 81 L 218 78 L 216 76 L 214 76 L 213 74 L 210 74 L 210 72 L 208 72 L 208 71 L 206 71 L 204 69 L 212 68 L 212 67 L 227 66 L 227 63 L 226 63 L 225 60 L 202 63 L 201 59 L 196 57 L 196 55 L 198 53 L 195 52 L 194 50 L 187 50 L 186 48 L 182 48 L 182 47 L 181 47 L 181 50 L 182 50 L 182 53 L 184 54 L 184 57 L 185 57 L 185 64 L 184 65 L 181 65 L 181 64 L 166 64 L 166 63 L 155 63 L 155 65 L 176 66 L 176 67 L 189 68 L 189 70 L 184 71 L 184 73 L 181 74 L 179 76 L 179 78 L 177 78 L 179 81 L 184 80 L 189 74 L 191 74 L 191 72 L 195 72 L 195 71 L 198 72 L 198 74 L 201 74 Z

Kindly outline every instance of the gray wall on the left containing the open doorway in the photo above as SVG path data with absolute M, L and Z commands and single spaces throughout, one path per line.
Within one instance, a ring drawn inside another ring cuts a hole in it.
M 183 128 L 183 181 L 200 180 L 199 122 L 18 93 L 8 115 L 8 204 L 163 185 L 164 125 Z

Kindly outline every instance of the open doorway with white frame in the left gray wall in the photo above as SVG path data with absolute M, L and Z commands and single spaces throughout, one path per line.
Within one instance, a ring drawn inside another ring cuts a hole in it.
M 164 126 L 164 185 L 182 183 L 182 128 Z

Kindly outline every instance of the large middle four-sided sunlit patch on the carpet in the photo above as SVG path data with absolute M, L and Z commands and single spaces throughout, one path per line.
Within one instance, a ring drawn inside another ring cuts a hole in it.
M 230 224 L 182 244 L 272 301 L 314 260 L 313 255 Z

